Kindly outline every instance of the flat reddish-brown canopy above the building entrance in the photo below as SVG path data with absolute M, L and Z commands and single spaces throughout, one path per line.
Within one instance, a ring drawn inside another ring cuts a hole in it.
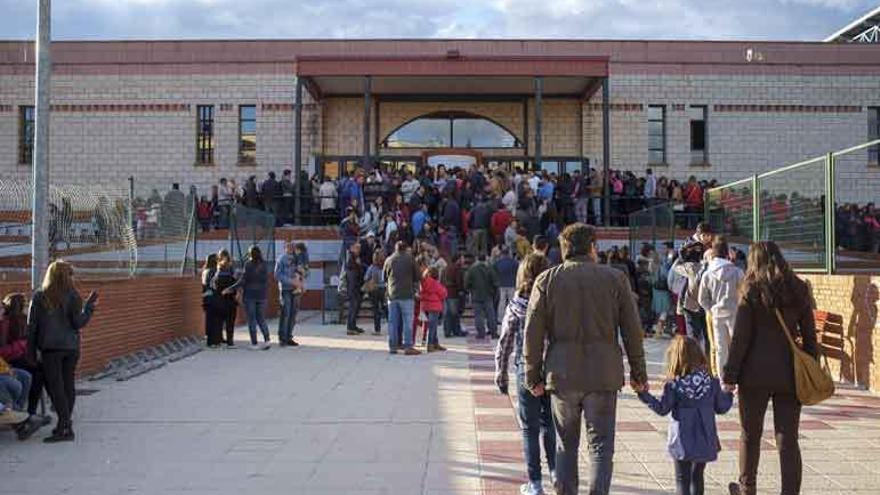
M 373 95 L 532 96 L 535 78 L 544 96 L 587 99 L 608 76 L 607 57 L 370 57 L 309 56 L 296 62 L 297 77 L 315 99 L 360 96 L 370 79 Z

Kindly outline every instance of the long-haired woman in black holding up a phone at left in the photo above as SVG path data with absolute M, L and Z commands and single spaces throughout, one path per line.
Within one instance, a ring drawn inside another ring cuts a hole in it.
M 75 400 L 74 375 L 79 361 L 80 329 L 92 317 L 98 293 L 83 303 L 73 279 L 73 266 L 62 260 L 49 265 L 28 311 L 28 356 L 42 364 L 46 390 L 58 424 L 46 443 L 73 441 L 70 415 Z

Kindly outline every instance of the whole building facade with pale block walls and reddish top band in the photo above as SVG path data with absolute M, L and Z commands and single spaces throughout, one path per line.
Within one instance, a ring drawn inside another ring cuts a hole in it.
M 124 187 L 133 176 L 139 195 L 152 188 L 163 191 L 172 182 L 195 184 L 204 191 L 220 177 L 241 181 L 293 168 L 298 75 L 306 83 L 301 157 L 309 173 L 324 170 L 326 162 L 336 163 L 336 157 L 363 156 L 367 121 L 368 153 L 374 160 L 418 157 L 428 150 L 386 148 L 382 140 L 406 122 L 440 111 L 469 112 L 500 124 L 522 146 L 479 151 L 528 163 L 538 147 L 538 115 L 536 95 L 530 86 L 521 87 L 532 74 L 518 74 L 519 80 L 510 74 L 474 74 L 450 81 L 449 90 L 424 81 L 432 64 L 471 67 L 480 57 L 508 66 L 558 59 L 559 67 L 569 63 L 564 57 L 601 58 L 610 91 L 611 168 L 642 173 L 650 166 L 658 175 L 677 179 L 695 175 L 725 182 L 863 143 L 876 137 L 880 107 L 880 48 L 870 45 L 162 41 L 58 42 L 53 51 L 53 182 Z M 347 79 L 322 82 L 321 77 L 302 76 L 303 60 L 321 57 L 330 62 L 336 57 L 335 74 Z M 23 112 L 33 105 L 33 60 L 31 43 L 0 43 L 0 177 L 30 175 L 30 167 L 20 162 L 26 156 Z M 381 67 L 397 67 L 389 60 L 414 72 L 383 73 Z M 418 68 L 420 63 L 429 67 L 427 72 Z M 365 116 L 357 67 L 370 64 L 380 67 L 373 78 L 384 77 L 386 89 L 374 82 L 370 114 Z M 554 67 L 570 75 L 564 67 Z M 554 77 L 548 78 L 547 88 L 564 79 Z M 600 79 L 582 77 L 582 88 L 565 94 L 545 88 L 540 103 L 544 160 L 585 159 L 590 166 L 602 165 Z M 475 90 L 468 94 L 468 88 Z M 197 160 L 200 105 L 213 108 L 210 164 Z M 253 161 L 240 159 L 243 105 L 254 106 L 256 115 Z M 663 109 L 665 158 L 657 163 L 649 160 L 649 106 Z M 705 159 L 695 159 L 692 151 L 694 107 L 705 107 L 698 109 L 705 112 Z M 860 153 L 840 169 L 841 201 L 878 199 L 875 157 Z

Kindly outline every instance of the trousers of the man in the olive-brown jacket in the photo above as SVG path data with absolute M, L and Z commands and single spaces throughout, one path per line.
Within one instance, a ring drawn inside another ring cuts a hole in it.
M 578 448 L 581 443 L 581 416 L 587 423 L 590 453 L 591 495 L 605 495 L 611 489 L 614 460 L 614 423 L 617 391 L 554 392 L 550 404 L 559 433 L 556 448 L 556 493 L 578 493 Z

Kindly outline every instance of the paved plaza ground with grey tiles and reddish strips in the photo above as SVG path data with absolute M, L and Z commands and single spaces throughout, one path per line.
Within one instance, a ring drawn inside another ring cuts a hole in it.
M 491 345 L 454 339 L 446 353 L 405 357 L 388 354 L 384 335 L 346 337 L 319 315 L 297 331 L 299 348 L 241 345 L 127 382 L 83 382 L 94 393 L 78 399 L 76 442 L 0 431 L 0 493 L 518 493 L 520 433 L 492 383 Z M 655 391 L 666 342 L 646 342 Z M 621 393 L 612 493 L 673 490 L 666 422 Z M 768 415 L 762 493 L 778 491 L 771 425 Z M 841 390 L 801 425 L 804 493 L 880 493 L 880 398 Z M 737 470 L 736 413 L 719 429 L 708 493 Z

